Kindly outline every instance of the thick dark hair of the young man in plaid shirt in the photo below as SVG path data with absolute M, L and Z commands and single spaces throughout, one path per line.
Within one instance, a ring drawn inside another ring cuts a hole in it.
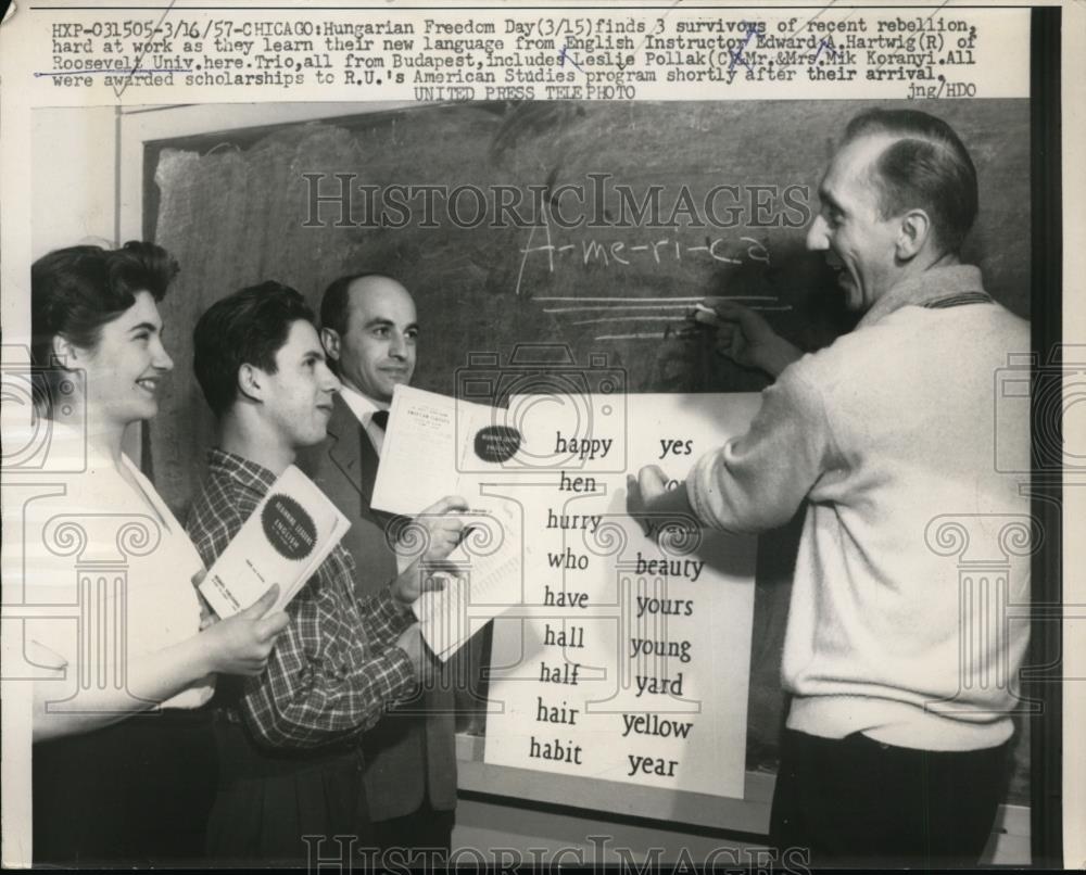
M 192 330 L 192 369 L 216 417 L 237 401 L 242 365 L 276 372 L 276 353 L 300 319 L 314 324 L 308 304 L 273 280 L 241 289 L 204 312 Z

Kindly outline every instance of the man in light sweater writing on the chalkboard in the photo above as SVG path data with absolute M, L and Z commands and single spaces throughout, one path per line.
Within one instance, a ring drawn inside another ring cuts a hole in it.
M 857 116 L 819 199 L 807 245 L 826 252 L 863 314 L 856 330 L 801 355 L 755 313 L 707 302 L 698 318 L 723 351 L 776 381 L 749 431 L 679 489 L 655 466 L 631 478 L 629 509 L 763 532 L 808 503 L 772 844 L 809 848 L 812 865 L 975 865 L 1028 639 L 1000 610 L 1028 600 L 1028 543 L 1009 551 L 1006 582 L 975 581 L 968 597 L 946 538 L 967 531 L 982 553 L 1030 531 L 1021 477 L 996 470 L 997 442 L 1015 462 L 1000 468 L 1030 470 L 1028 400 L 998 434 L 995 415 L 997 371 L 1028 352 L 1028 324 L 959 259 L 976 173 L 940 119 Z

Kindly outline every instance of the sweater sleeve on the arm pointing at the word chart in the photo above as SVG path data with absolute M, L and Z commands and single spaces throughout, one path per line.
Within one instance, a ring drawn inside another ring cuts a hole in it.
M 749 533 L 783 525 L 825 470 L 833 441 L 822 394 L 807 370 L 803 364 L 785 368 L 762 392 L 746 434 L 694 466 L 686 491 L 706 525 Z

